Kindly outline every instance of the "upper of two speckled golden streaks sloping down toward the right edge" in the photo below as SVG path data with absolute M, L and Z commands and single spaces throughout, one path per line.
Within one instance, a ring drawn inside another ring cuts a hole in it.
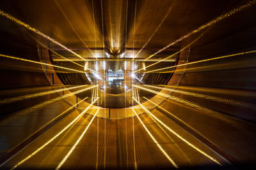
M 211 101 L 217 101 L 217 102 L 220 102 L 220 103 L 226 103 L 226 104 L 230 104 L 230 105 L 233 105 L 233 106 L 240 106 L 240 107 L 243 107 L 243 108 L 250 108 L 251 110 L 256 110 L 256 105 L 251 104 L 251 103 L 245 103 L 245 102 L 241 102 L 241 101 L 235 101 L 235 100 L 232 100 L 232 99 L 225 99 L 225 98 L 215 97 L 215 96 L 208 96 L 208 95 L 204 95 L 204 94 L 196 94 L 196 93 L 193 93 L 193 92 L 186 92 L 186 91 L 183 91 L 183 90 L 175 90 L 175 89 L 168 89 L 168 88 L 163 88 L 163 87 L 156 87 L 156 86 L 153 86 L 153 85 L 144 85 L 144 86 L 155 88 L 155 89 L 160 89 L 160 90 L 163 89 L 163 90 L 167 90 L 169 92 L 185 94 L 185 95 L 188 95 L 188 96 L 199 97 L 199 98 L 202 98 L 202 99 L 208 99 L 208 100 L 211 100 Z

